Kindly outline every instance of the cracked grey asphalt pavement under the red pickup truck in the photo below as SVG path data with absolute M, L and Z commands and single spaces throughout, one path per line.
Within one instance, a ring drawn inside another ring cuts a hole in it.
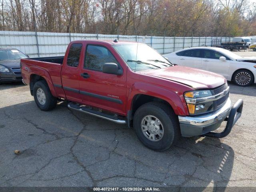
M 66 102 L 43 112 L 28 86 L 2 84 L 0 186 L 256 186 L 256 86 L 230 84 L 230 97 L 244 108 L 226 138 L 182 138 L 155 152 L 126 125 Z

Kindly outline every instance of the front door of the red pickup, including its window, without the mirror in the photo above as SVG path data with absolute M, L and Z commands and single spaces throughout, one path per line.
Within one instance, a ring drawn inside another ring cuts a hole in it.
M 126 113 L 126 69 L 122 75 L 102 72 L 104 63 L 120 64 L 110 50 L 102 45 L 86 44 L 84 64 L 80 67 L 82 102 L 117 114 Z

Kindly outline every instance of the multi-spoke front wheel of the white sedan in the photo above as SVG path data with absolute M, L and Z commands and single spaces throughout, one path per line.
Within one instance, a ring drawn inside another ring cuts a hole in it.
M 249 70 L 238 70 L 234 74 L 234 82 L 238 86 L 249 86 L 254 82 L 254 76 Z

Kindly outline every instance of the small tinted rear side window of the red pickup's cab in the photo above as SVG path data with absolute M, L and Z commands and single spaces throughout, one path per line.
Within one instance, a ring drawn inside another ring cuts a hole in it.
M 70 46 L 69 52 L 68 52 L 68 59 L 67 59 L 67 65 L 71 67 L 77 67 L 79 64 L 79 58 L 82 50 L 82 44 L 81 43 L 73 43 Z

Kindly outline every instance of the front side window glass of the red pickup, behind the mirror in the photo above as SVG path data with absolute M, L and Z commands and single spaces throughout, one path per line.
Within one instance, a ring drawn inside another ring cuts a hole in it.
M 97 45 L 88 45 L 84 68 L 101 71 L 104 63 L 118 64 L 117 60 L 107 48 Z

